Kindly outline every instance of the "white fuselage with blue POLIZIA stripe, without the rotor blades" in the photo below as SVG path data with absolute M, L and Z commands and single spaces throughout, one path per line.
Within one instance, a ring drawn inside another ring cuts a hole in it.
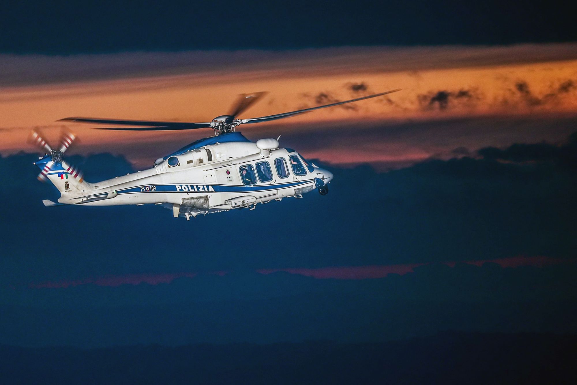
M 275 139 L 254 143 L 244 137 L 243 141 L 220 142 L 219 137 L 212 138 L 199 141 L 202 146 L 193 144 L 160 158 L 152 168 L 84 183 L 83 191 L 61 190 L 58 202 L 163 205 L 172 209 L 175 217 L 188 219 L 197 214 L 254 207 L 273 199 L 300 198 L 313 190 L 323 195 L 328 192 L 332 173 L 309 163 L 294 150 L 275 148 Z

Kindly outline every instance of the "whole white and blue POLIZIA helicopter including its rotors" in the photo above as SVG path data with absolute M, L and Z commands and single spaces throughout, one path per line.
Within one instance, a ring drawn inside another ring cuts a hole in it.
M 400 89 L 305 108 L 260 118 L 239 119 L 265 92 L 239 95 L 230 114 L 217 116 L 211 122 L 149 122 L 100 118 L 64 118 L 59 121 L 140 126 L 132 128 L 97 127 L 99 130 L 169 131 L 213 129 L 214 135 L 198 139 L 183 148 L 158 158 L 152 168 L 89 183 L 76 167 L 63 159 L 76 135 L 63 131 L 58 148 L 51 148 L 38 131 L 32 131 L 31 142 L 46 154 L 34 164 L 41 171 L 38 179 L 51 182 L 60 192 L 57 202 L 45 199 L 44 206 L 117 206 L 160 205 L 172 210 L 174 217 L 196 217 L 198 214 L 227 212 L 233 209 L 253 210 L 257 203 L 284 198 L 302 198 L 317 190 L 327 195 L 333 175 L 327 169 L 310 163 L 290 148 L 280 148 L 279 138 L 252 142 L 236 131 L 241 124 L 269 122 L 320 108 L 353 103 L 397 92 Z

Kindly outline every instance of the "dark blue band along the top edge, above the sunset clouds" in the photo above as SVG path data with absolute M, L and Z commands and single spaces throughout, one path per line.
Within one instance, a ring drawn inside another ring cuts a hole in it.
M 5 2 L 0 52 L 514 44 L 577 40 L 547 2 Z

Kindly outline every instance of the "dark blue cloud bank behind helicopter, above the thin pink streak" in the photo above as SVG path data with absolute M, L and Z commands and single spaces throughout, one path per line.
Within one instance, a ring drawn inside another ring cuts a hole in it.
M 491 156 L 489 150 L 481 150 L 475 157 L 459 154 L 385 173 L 366 165 L 329 167 L 335 179 L 326 197 L 311 193 L 305 199 L 283 199 L 250 212 L 234 210 L 189 222 L 158 206 L 44 207 L 42 199 L 54 199 L 54 191 L 36 181 L 35 154 L 0 157 L 5 178 L 0 188 L 5 202 L 0 206 L 4 218 L 0 231 L 10 240 L 0 251 L 0 260 L 8 264 L 0 277 L 9 282 L 13 277 L 46 282 L 173 271 L 485 261 L 512 255 L 571 258 L 577 247 L 571 230 L 577 225 L 577 206 L 570 198 L 575 176 L 567 172 L 571 158 L 565 160 L 561 154 L 570 154 L 573 143 L 574 139 L 549 144 L 557 152 L 553 158 L 507 148 L 493 149 L 497 154 Z M 124 158 L 110 154 L 70 161 L 81 165 L 92 181 L 133 171 Z M 25 203 L 9 204 L 14 194 Z M 357 203 L 351 205 L 351 199 Z M 270 218 L 298 223 L 301 242 L 294 242 L 293 232 L 279 231 L 280 224 L 263 227 Z M 31 241 L 44 239 L 48 232 L 44 229 L 54 223 L 66 232 L 65 243 L 51 241 L 44 247 Z M 246 233 L 223 234 L 219 231 L 223 223 L 258 229 L 251 236 L 291 246 L 275 248 L 275 258 L 252 247 L 231 249 L 227 245 L 246 243 Z M 30 231 L 36 228 L 43 230 Z M 309 247 L 318 239 L 329 240 L 323 252 Z M 187 242 L 194 247 L 184 248 Z

